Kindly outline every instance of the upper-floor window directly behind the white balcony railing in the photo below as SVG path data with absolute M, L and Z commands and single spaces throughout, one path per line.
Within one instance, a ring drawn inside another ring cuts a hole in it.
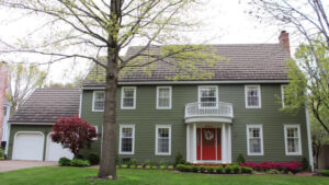
M 198 86 L 198 103 L 201 107 L 215 107 L 218 102 L 217 86 Z

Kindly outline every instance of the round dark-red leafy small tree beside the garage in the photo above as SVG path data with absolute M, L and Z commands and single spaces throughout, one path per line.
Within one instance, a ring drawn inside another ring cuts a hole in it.
M 52 140 L 61 143 L 77 157 L 79 149 L 90 148 L 97 131 L 88 122 L 78 117 L 60 117 L 53 127 Z

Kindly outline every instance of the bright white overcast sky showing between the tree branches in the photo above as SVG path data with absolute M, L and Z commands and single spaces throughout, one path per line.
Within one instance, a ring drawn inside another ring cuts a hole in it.
M 279 35 L 282 30 L 273 24 L 263 24 L 249 15 L 249 7 L 242 0 L 207 0 L 206 3 L 195 11 L 194 16 L 202 18 L 202 28 L 196 33 L 190 33 L 191 43 L 206 39 L 208 44 L 269 44 L 279 43 Z M 18 15 L 14 10 L 0 11 L 0 39 L 15 43 L 20 37 L 29 36 L 43 21 L 43 18 L 32 15 Z M 9 19 L 10 18 L 10 19 Z M 15 18 L 14 20 L 12 18 Z M 23 19 L 22 19 L 23 18 Z M 43 33 L 38 37 L 49 35 Z M 38 37 L 33 38 L 37 41 Z M 297 39 L 291 35 L 291 46 L 297 46 Z M 136 43 L 135 43 L 136 44 Z M 125 51 L 125 50 L 124 50 Z M 124 53 L 123 51 L 123 53 Z M 124 54 L 121 54 L 124 55 Z M 21 62 L 27 55 L 15 54 L 12 61 Z M 41 56 L 32 55 L 29 59 L 42 59 Z M 0 60 L 4 60 L 0 56 Z M 47 68 L 47 66 L 42 66 Z M 68 62 L 61 61 L 50 66 L 48 82 L 67 83 L 77 76 L 84 76 L 90 63 L 84 61 Z

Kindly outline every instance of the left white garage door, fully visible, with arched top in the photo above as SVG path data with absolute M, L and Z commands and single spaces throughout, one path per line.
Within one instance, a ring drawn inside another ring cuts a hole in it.
M 43 160 L 44 135 L 42 132 L 16 132 L 13 160 Z

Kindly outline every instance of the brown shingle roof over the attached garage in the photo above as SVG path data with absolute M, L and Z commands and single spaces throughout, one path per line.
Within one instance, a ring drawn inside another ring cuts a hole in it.
M 78 115 L 79 104 L 79 89 L 36 89 L 9 123 L 55 124 L 59 117 Z

